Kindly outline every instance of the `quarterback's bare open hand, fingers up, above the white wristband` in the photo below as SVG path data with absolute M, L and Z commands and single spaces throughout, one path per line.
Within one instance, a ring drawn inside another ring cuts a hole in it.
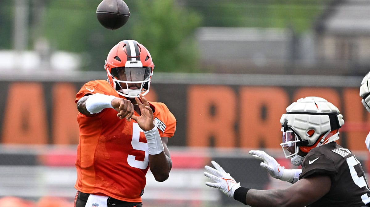
M 139 96 L 142 102 L 139 100 L 138 97 L 135 97 L 135 100 L 140 108 L 141 115 L 140 116 L 132 115 L 131 118 L 139 124 L 139 127 L 142 130 L 149 131 L 152 128 L 154 128 L 153 110 L 150 107 L 148 100 L 145 99 L 145 97 L 142 94 L 140 94 Z

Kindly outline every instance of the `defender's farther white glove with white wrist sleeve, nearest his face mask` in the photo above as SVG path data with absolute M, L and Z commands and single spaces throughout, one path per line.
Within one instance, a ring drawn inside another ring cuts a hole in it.
M 272 177 L 287 181 L 289 183 L 295 183 L 298 181 L 299 174 L 302 172 L 301 169 L 285 169 L 276 162 L 275 158 L 268 155 L 266 152 L 261 150 L 251 150 L 249 154 L 253 158 L 262 160 L 260 163 L 261 168 L 265 169 Z

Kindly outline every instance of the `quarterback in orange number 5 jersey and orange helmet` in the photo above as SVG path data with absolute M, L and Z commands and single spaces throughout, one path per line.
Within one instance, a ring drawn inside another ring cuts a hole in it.
M 176 119 L 164 103 L 144 97 L 154 64 L 143 45 L 119 42 L 104 67 L 108 80 L 85 83 L 76 95 L 75 207 L 141 207 L 148 169 L 159 182 L 169 176 Z

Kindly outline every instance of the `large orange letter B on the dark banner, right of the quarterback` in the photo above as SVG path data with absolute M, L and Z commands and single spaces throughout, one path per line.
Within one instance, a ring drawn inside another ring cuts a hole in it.
M 188 146 L 236 146 L 235 92 L 227 86 L 188 89 Z

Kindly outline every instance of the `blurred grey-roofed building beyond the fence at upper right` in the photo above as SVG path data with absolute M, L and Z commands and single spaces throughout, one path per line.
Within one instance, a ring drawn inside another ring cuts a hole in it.
M 208 72 L 363 75 L 370 70 L 370 1 L 333 1 L 304 34 L 202 27 L 197 38 Z

